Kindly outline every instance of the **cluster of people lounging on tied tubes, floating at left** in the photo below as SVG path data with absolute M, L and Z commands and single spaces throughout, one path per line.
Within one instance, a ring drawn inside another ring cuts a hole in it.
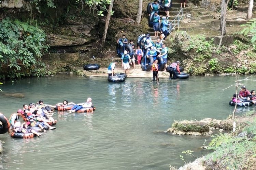
M 57 120 L 53 118 L 54 108 L 66 107 L 65 110 L 77 112 L 80 109 L 92 108 L 93 103 L 91 103 L 91 100 L 91 98 L 88 98 L 86 102 L 79 104 L 73 102 L 68 103 L 67 100 L 64 100 L 62 103 L 57 103 L 54 106 L 44 104 L 43 100 L 39 100 L 36 104 L 23 104 L 23 109 L 18 109 L 17 113 L 12 114 L 9 118 L 9 133 L 12 137 L 17 136 L 17 134 L 23 134 L 24 136 L 26 136 L 26 134 L 41 136 L 48 129 L 56 129 L 56 127 L 53 126 L 57 123 Z M 89 111 L 93 112 L 93 109 L 89 109 Z M 20 121 L 20 117 L 23 122 Z M 30 135 L 28 138 L 30 138 Z

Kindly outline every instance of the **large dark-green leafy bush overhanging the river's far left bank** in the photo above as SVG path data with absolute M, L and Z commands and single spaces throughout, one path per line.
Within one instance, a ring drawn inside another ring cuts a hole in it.
M 36 68 L 41 63 L 41 56 L 49 48 L 45 38 L 41 29 L 27 22 L 8 18 L 0 22 L 0 66 L 9 66 L 8 78 L 20 77 L 21 70 Z M 4 78 L 0 74 L 0 79 Z

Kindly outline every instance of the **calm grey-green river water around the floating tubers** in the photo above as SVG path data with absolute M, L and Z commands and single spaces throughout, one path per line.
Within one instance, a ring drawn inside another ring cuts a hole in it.
M 239 79 L 244 78 L 243 76 Z M 252 79 L 255 78 L 252 77 Z M 164 133 L 174 120 L 225 119 L 232 113 L 228 102 L 235 92 L 234 76 L 190 77 L 186 80 L 128 78 L 109 83 L 106 78 L 75 75 L 25 78 L 3 82 L 0 112 L 7 118 L 24 103 L 44 100 L 56 104 L 67 99 L 81 103 L 93 99 L 93 114 L 55 112 L 57 129 L 33 139 L 0 135 L 5 142 L 0 155 L 2 169 L 169 169 L 182 166 L 182 151 L 195 157 L 207 154 L 199 149 L 206 136 Z M 244 81 L 247 89 L 253 81 Z M 24 97 L 9 97 L 21 93 Z M 249 111 L 239 108 L 238 115 Z M 186 160 L 195 158 L 185 157 Z

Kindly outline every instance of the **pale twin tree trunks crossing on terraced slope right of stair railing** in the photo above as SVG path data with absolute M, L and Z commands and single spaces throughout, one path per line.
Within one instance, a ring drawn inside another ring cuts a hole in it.
M 229 0 L 222 0 L 221 3 L 221 39 L 219 40 L 219 46 L 218 49 L 221 47 L 222 44 L 222 38 L 224 35 L 226 35 L 226 15 L 227 15 L 227 8 L 228 8 L 228 2 Z

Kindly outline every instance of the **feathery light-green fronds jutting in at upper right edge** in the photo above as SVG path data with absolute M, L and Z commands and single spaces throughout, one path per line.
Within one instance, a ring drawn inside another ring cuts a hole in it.
M 246 24 L 242 24 L 241 27 L 245 27 L 240 33 L 247 36 L 248 34 L 252 35 L 251 43 L 253 45 L 254 50 L 256 51 L 256 19 L 252 19 Z

